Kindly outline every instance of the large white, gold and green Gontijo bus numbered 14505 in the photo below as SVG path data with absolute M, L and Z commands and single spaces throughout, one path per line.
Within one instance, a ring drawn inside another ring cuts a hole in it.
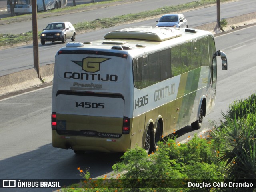
M 190 28 L 130 27 L 95 42 L 70 42 L 55 56 L 52 146 L 147 152 L 214 110 L 214 36 Z

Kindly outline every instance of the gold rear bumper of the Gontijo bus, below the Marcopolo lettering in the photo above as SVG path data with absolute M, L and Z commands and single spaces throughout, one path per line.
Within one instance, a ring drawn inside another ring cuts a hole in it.
M 52 130 L 52 146 L 83 151 L 126 152 L 130 148 L 130 134 L 122 135 L 118 139 L 112 139 L 59 135 L 56 130 Z

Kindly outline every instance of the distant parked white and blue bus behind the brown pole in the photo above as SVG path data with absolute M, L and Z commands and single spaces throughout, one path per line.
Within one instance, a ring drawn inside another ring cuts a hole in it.
M 46 10 L 58 9 L 67 5 L 67 0 L 44 0 Z M 37 12 L 43 11 L 43 0 L 36 1 L 36 10 Z M 10 13 L 10 5 L 7 1 L 7 12 Z M 14 7 L 15 13 L 32 13 L 32 0 L 17 0 L 17 3 Z

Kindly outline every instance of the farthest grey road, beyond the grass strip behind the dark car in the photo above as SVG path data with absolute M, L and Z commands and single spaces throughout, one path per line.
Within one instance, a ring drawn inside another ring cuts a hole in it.
M 164 6 L 178 5 L 192 1 L 193 0 L 139 0 L 126 4 L 118 4 L 116 6 L 104 4 L 103 8 L 97 10 L 92 9 L 84 12 L 68 14 L 66 16 L 60 15 L 38 19 L 38 31 L 43 30 L 50 22 L 68 20 L 72 24 L 77 24 L 80 22 L 93 21 L 95 19 L 114 17 L 130 13 L 140 13 L 142 11 L 162 8 Z M 20 34 L 31 30 L 32 21 L 24 21 L 5 25 L 3 28 L 0 28 L 0 33 Z

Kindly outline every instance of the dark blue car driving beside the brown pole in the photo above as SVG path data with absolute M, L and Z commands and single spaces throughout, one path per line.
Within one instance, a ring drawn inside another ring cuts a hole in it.
M 41 44 L 44 45 L 46 41 L 62 41 L 66 39 L 74 41 L 76 39 L 76 30 L 70 22 L 53 22 L 46 26 L 40 35 Z

